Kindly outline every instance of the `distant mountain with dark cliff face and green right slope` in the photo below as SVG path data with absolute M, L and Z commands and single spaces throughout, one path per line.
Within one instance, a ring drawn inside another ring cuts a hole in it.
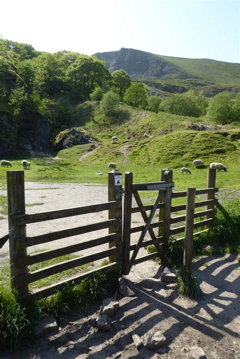
M 120 68 L 132 78 L 143 80 L 163 80 L 166 83 L 200 80 L 198 86 L 239 85 L 240 64 L 211 59 L 187 59 L 156 55 L 145 51 L 125 49 L 96 53 L 98 59 L 105 61 L 112 72 Z M 201 82 L 203 81 L 203 82 Z

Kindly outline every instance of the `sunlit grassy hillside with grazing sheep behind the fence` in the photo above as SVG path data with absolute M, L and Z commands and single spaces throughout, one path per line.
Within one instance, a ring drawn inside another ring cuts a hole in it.
M 129 112 L 123 122 L 108 126 L 89 121 L 86 131 L 99 139 L 94 144 L 73 146 L 44 156 L 25 152 L 18 158 L 6 159 L 13 163 L 12 170 L 21 170 L 21 160 L 28 159 L 31 169 L 25 170 L 25 180 L 41 182 L 107 184 L 108 162 L 115 162 L 123 175 L 126 171 L 133 172 L 134 182 L 157 181 L 161 170 L 169 167 L 174 170 L 176 189 L 205 187 L 209 164 L 222 162 L 227 172 L 217 173 L 217 185 L 227 193 L 239 190 L 239 129 L 228 126 L 218 131 L 186 130 L 189 124 L 194 125 L 196 118 L 131 108 Z M 143 138 L 144 132 L 153 138 Z M 119 141 L 113 143 L 113 135 Z M 204 161 L 203 168 L 193 167 L 196 158 Z M 183 166 L 189 167 L 192 174 L 181 175 Z M 96 174 L 98 170 L 103 176 Z M 0 168 L 2 185 L 6 183 L 6 171 L 7 168 Z

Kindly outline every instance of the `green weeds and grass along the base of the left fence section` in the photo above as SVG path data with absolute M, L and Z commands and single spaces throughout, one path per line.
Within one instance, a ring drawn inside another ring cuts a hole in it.
M 41 316 L 53 314 L 60 323 L 69 310 L 89 307 L 101 299 L 105 291 L 115 289 L 119 276 L 119 269 L 108 274 L 96 272 L 77 286 L 66 287 L 51 297 L 25 305 L 18 302 L 13 292 L 0 288 L 0 348 L 15 349 L 32 344 L 33 325 Z

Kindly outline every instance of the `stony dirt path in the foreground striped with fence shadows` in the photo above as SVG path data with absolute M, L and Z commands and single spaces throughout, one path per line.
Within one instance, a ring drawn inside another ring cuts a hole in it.
M 150 285 L 146 277 L 159 278 L 165 270 L 153 261 L 133 267 L 127 277 L 134 297 L 117 296 L 119 310 L 110 332 L 100 332 L 92 324 L 99 315 L 101 303 L 88 310 L 74 310 L 59 331 L 39 339 L 33 348 L 7 353 L 11 358 L 188 358 L 189 348 L 201 347 L 209 359 L 237 359 L 239 343 L 239 265 L 236 255 L 202 257 L 195 260 L 194 274 L 201 281 L 203 295 L 189 300 L 167 292 L 162 284 Z M 133 344 L 134 331 L 146 344 L 149 335 L 161 330 L 166 353 Z M 196 356 L 195 356 L 196 357 Z

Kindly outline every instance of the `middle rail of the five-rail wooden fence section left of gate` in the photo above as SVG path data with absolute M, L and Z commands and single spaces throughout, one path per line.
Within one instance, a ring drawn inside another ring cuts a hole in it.
M 115 241 L 121 238 L 121 233 L 113 233 L 105 235 L 104 237 L 97 238 L 95 240 L 88 240 L 87 242 L 77 243 L 75 245 L 62 247 L 58 249 L 54 249 L 51 251 L 46 251 L 43 253 L 36 253 L 28 256 L 22 256 L 18 258 L 18 262 L 25 265 L 31 265 L 39 262 L 44 262 L 48 259 L 57 258 L 64 256 L 66 254 L 83 251 L 88 248 L 93 248 L 96 246 L 103 245 L 105 243 L 109 243 L 111 241 Z

